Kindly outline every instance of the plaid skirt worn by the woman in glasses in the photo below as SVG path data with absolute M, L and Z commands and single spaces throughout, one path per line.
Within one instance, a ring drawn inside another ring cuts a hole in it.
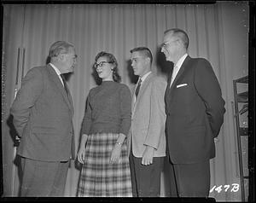
M 131 171 L 127 144 L 123 143 L 118 163 L 110 164 L 112 149 L 119 134 L 89 135 L 79 178 L 78 196 L 131 197 Z

